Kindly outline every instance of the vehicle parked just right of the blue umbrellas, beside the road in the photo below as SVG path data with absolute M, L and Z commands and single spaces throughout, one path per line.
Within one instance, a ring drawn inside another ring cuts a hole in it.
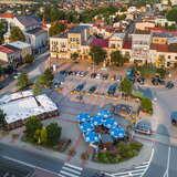
M 153 133 L 150 122 L 147 122 L 145 119 L 140 119 L 139 122 L 137 122 L 134 131 L 136 133 L 146 134 L 146 135 L 152 135 Z

